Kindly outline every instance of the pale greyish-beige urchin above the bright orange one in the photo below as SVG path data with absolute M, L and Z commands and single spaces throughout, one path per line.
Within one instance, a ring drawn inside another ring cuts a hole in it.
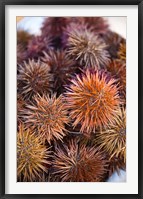
M 105 67 L 110 56 L 105 42 L 93 32 L 73 29 L 68 32 L 67 52 L 80 65 L 100 69 Z

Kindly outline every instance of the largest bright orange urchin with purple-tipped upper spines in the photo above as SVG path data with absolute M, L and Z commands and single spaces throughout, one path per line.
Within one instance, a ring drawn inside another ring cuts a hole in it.
M 67 86 L 65 94 L 73 126 L 81 124 L 81 132 L 113 123 L 120 105 L 116 80 L 103 70 L 86 70 Z

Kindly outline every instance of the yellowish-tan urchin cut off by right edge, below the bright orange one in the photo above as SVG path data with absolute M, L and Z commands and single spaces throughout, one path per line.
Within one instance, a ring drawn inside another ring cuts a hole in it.
M 97 134 L 99 148 L 104 150 L 109 158 L 122 157 L 126 160 L 126 110 L 120 108 L 114 124 Z

